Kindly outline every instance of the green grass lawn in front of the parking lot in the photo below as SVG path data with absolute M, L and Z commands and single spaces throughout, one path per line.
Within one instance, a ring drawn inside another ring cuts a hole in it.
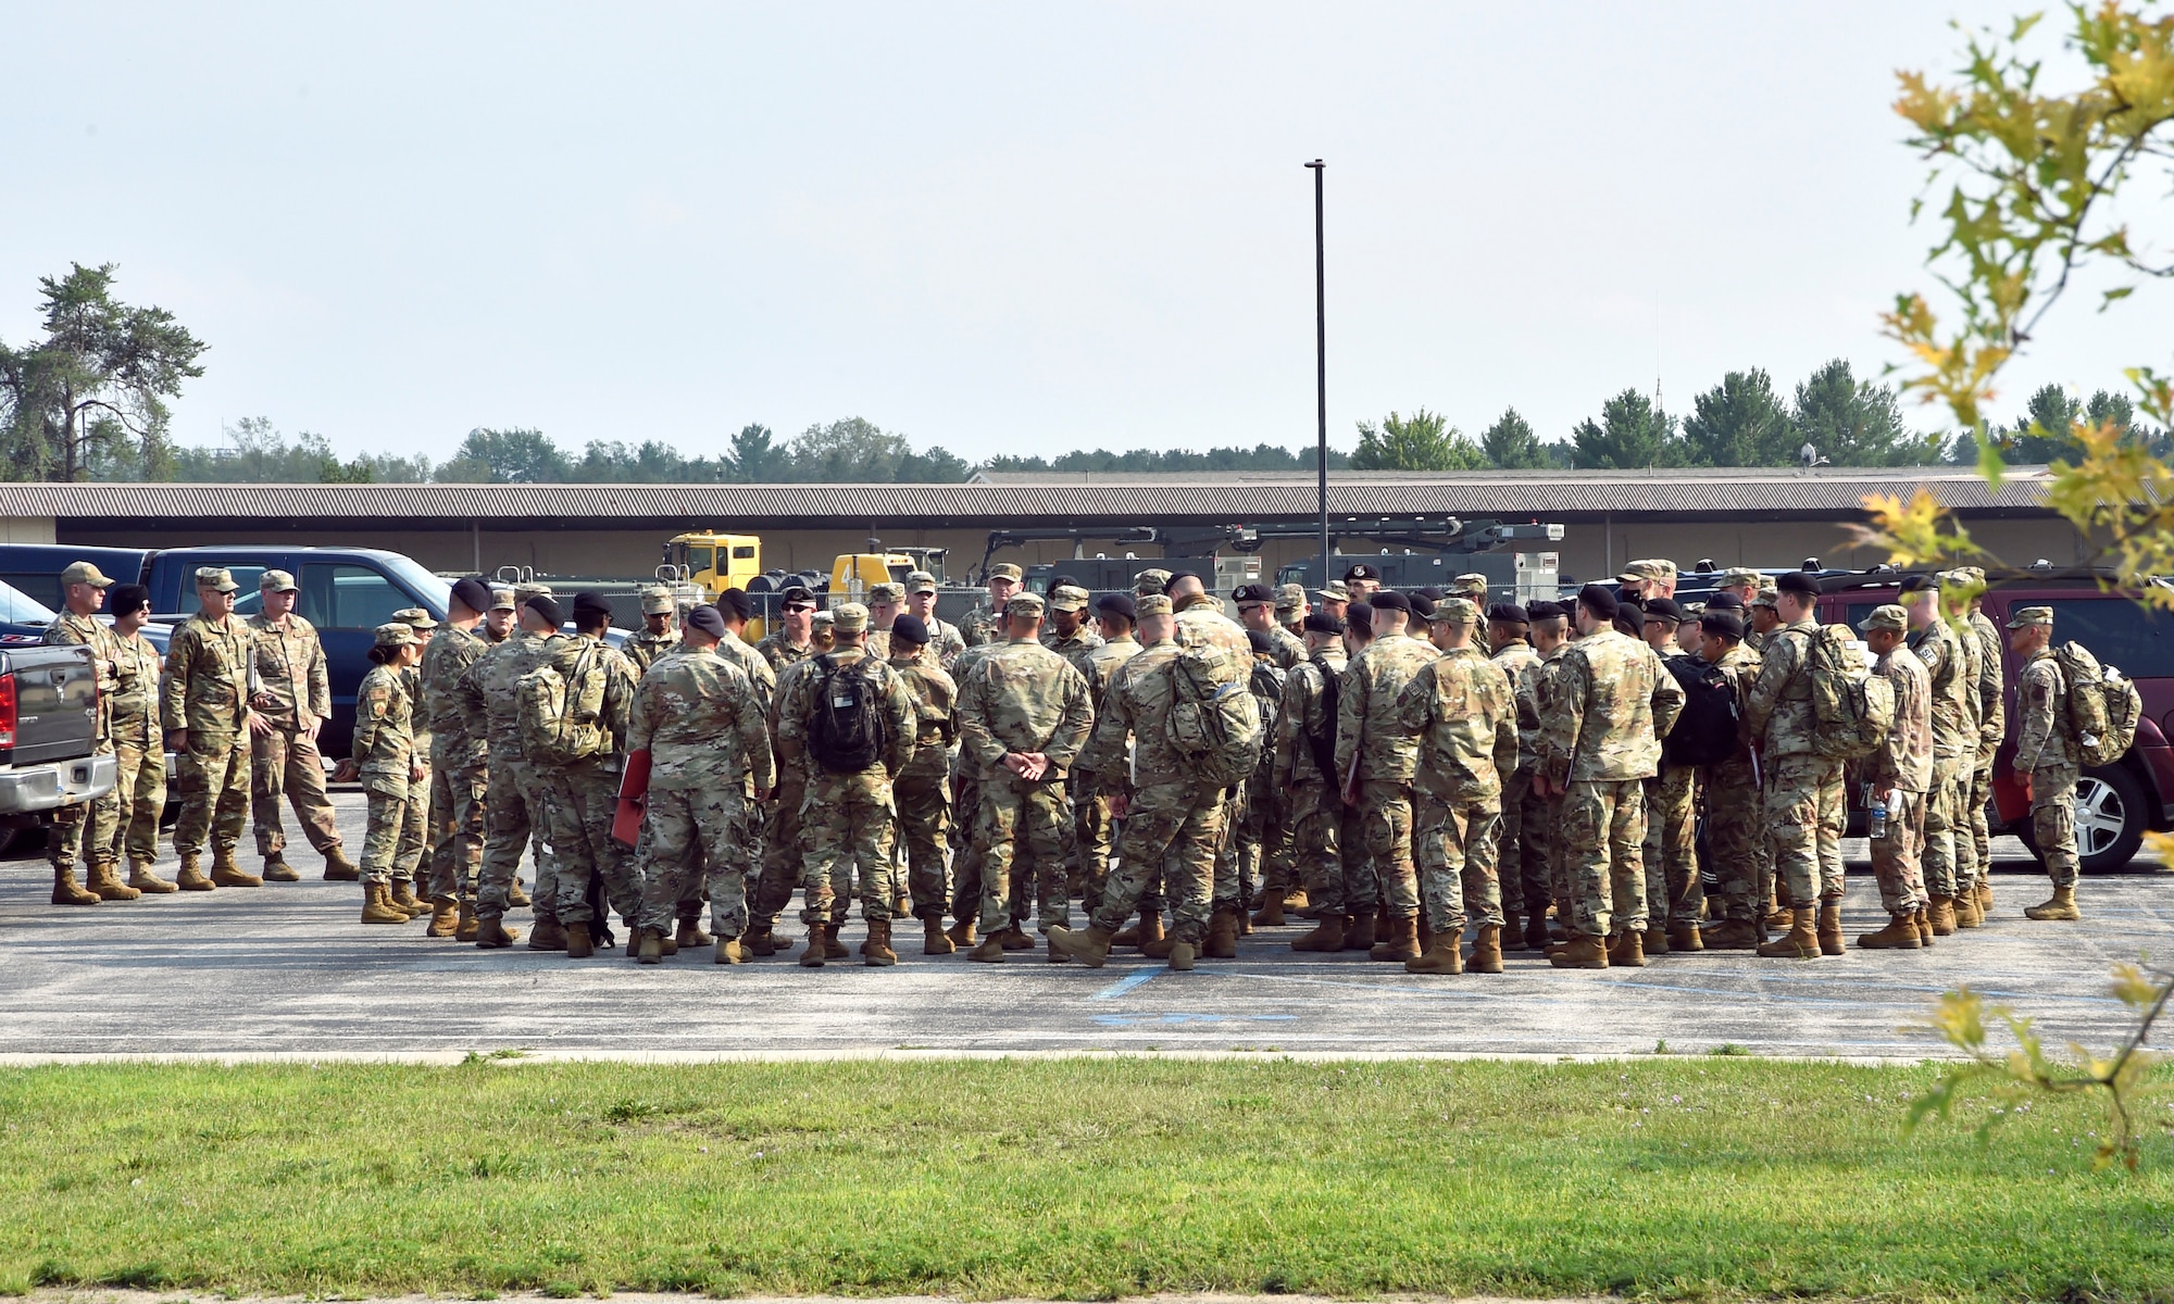
M 0 1289 L 2174 1300 L 2174 1145 L 1757 1058 L 0 1071 Z M 2163 1100 L 2152 1111 L 2170 1115 Z

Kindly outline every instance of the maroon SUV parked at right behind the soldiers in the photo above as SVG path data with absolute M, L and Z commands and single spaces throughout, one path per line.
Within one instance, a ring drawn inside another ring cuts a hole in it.
M 1863 630 L 1865 617 L 1883 602 L 1896 602 L 1896 572 L 1826 576 L 1820 580 L 1820 624 Z M 2165 580 L 2161 580 L 2165 582 Z M 2100 589 L 2085 572 L 2046 572 L 1996 580 L 1985 593 L 1985 615 L 2007 645 L 2009 611 L 2050 606 L 2054 643 L 2076 641 L 2102 665 L 2115 665 L 2137 682 L 2144 719 L 2137 741 L 2113 765 L 2083 772 L 2076 785 L 2076 850 L 2083 872 L 2120 869 L 2144 843 L 2148 828 L 2174 824 L 2174 613 L 2135 602 L 2133 593 Z M 2013 832 L 2031 843 L 2031 800 L 2011 772 L 2015 758 L 2015 654 L 2002 650 L 2009 739 L 1994 758 L 1994 832 Z M 1854 824 L 1854 819 L 1852 819 Z M 2035 850 L 2035 848 L 2033 848 Z

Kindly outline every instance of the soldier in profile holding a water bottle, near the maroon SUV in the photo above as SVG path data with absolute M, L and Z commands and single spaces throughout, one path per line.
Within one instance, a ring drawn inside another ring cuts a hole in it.
M 1926 917 L 1924 793 L 1933 787 L 1933 678 L 1904 645 L 1909 613 L 1876 606 L 1865 617 L 1865 645 L 1878 656 L 1872 674 L 1896 689 L 1896 722 L 1878 752 L 1865 756 L 1872 806 L 1887 811 L 1887 828 L 1872 839 L 1872 876 L 1881 885 L 1887 928 L 1867 932 L 1857 945 L 1870 950 L 1922 950 L 1933 943 Z

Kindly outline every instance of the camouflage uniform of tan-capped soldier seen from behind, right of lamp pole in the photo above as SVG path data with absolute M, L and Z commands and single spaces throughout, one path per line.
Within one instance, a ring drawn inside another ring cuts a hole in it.
M 1517 698 L 1478 648 L 1420 669 L 1396 700 L 1396 724 L 1420 739 L 1413 852 L 1426 921 L 1459 937 L 1465 917 L 1502 924 L 1496 822 L 1502 776 L 1517 769 Z

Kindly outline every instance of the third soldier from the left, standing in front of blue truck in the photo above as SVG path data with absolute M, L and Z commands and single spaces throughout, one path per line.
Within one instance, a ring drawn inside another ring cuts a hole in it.
M 183 891 L 263 887 L 235 863 L 241 824 L 250 813 L 250 698 L 257 659 L 250 628 L 235 619 L 235 576 L 226 567 L 196 569 L 198 613 L 180 622 L 165 645 L 165 700 L 159 715 L 165 745 L 178 754 L 174 793 L 176 882 Z M 211 843 L 211 876 L 198 869 Z

